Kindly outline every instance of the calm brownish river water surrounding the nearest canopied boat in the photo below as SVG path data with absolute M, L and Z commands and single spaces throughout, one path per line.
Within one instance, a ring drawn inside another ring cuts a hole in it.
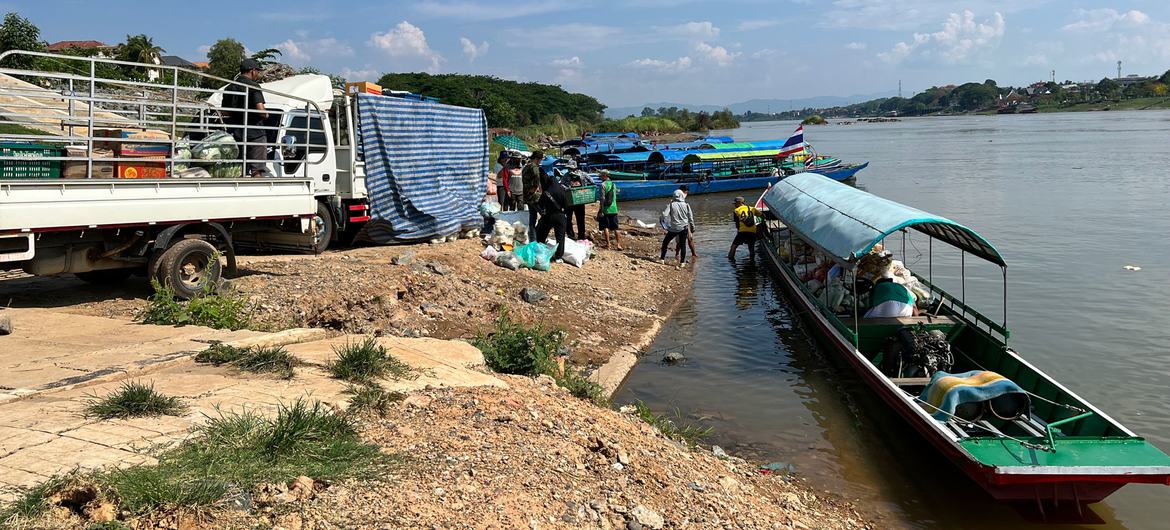
M 794 128 L 768 122 L 727 132 L 777 139 Z M 1009 264 L 1013 347 L 1170 450 L 1170 112 L 910 118 L 811 126 L 806 139 L 846 161 L 869 160 L 858 187 L 992 241 Z M 755 200 L 758 192 L 744 195 Z M 743 248 L 736 262 L 727 260 L 731 197 L 691 198 L 701 255 L 695 289 L 617 402 L 676 411 L 714 427 L 708 441 L 732 454 L 792 463 L 813 487 L 855 501 L 882 526 L 1080 528 L 1040 525 L 996 503 L 830 363 L 763 263 L 751 263 Z M 652 221 L 662 202 L 624 208 Z M 906 246 L 904 261 L 920 273 L 925 243 L 920 235 Z M 957 292 L 957 259 L 941 259 L 941 247 L 934 247 L 936 283 Z M 969 303 L 998 319 L 998 268 L 969 259 L 966 276 Z M 666 351 L 688 360 L 663 365 Z M 1101 521 L 1090 528 L 1166 528 L 1170 488 L 1130 484 L 1093 511 Z

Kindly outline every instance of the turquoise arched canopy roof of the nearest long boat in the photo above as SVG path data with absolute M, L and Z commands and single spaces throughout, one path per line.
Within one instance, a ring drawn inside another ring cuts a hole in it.
M 817 173 L 797 173 L 780 180 L 764 193 L 764 204 L 793 232 L 840 261 L 853 262 L 886 236 L 914 228 L 1000 267 L 1007 266 L 996 247 L 963 225 Z

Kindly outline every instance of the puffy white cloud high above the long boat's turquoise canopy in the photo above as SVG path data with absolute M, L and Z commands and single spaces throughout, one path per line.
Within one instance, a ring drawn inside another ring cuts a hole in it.
M 945 63 L 963 63 L 983 50 L 999 46 L 1004 27 L 1004 15 L 998 12 L 984 22 L 976 22 L 970 11 L 951 13 L 942 29 L 915 33 L 910 41 L 894 44 L 889 51 L 878 54 L 878 58 L 899 63 L 918 51 L 924 57 L 937 57 Z

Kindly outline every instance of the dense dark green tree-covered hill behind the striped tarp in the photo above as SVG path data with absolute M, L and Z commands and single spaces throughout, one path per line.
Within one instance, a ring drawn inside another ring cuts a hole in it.
M 438 97 L 453 105 L 483 109 L 488 126 L 493 128 L 515 129 L 548 123 L 553 116 L 570 122 L 596 123 L 605 111 L 605 105 L 593 97 L 571 94 L 560 87 L 482 75 L 386 74 L 378 80 L 378 84 Z

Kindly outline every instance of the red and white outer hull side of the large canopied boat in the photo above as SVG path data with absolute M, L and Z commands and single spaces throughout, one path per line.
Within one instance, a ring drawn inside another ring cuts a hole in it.
M 978 483 L 989 495 L 1005 502 L 1069 502 L 1088 504 L 1100 502 L 1127 483 L 1170 484 L 1165 473 L 1141 474 L 1134 468 L 1025 468 L 1024 473 L 1004 473 L 993 466 L 975 460 L 954 438 L 929 417 L 914 409 L 896 386 L 878 372 L 873 365 L 820 314 L 818 307 L 784 269 L 776 250 L 764 238 L 762 247 L 764 261 L 777 278 L 785 296 L 798 305 L 798 315 L 812 328 L 817 340 L 827 346 L 830 353 L 849 366 L 882 401 L 893 408 L 907 424 L 930 442 L 964 474 Z

